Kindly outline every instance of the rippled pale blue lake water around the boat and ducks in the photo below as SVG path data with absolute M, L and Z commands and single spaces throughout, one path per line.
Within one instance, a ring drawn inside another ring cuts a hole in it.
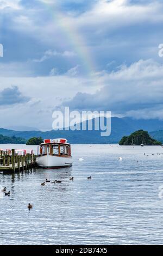
M 13 147 L 27 146 L 0 145 Z M 71 168 L 0 174 L 11 192 L 0 198 L 0 245 L 163 244 L 163 149 L 72 145 L 72 153 Z M 46 178 L 62 183 L 43 187 Z

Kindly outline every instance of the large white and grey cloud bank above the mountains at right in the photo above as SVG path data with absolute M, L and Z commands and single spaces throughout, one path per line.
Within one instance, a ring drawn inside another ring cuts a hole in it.
M 64 105 L 72 109 L 112 111 L 123 115 L 163 118 L 163 64 L 152 59 L 122 66 L 114 72 L 99 72 L 94 82 L 103 87 L 95 94 L 77 93 Z

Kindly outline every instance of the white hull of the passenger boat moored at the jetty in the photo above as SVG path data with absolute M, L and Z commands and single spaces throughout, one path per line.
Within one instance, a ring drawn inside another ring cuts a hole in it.
M 61 168 L 72 166 L 72 157 L 41 155 L 36 157 L 38 166 L 43 168 Z

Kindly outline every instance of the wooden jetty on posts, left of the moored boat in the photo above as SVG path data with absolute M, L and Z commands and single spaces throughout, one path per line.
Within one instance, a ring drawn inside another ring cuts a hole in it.
M 15 173 L 24 169 L 29 169 L 36 166 L 36 157 L 34 154 L 18 156 L 15 154 L 15 149 L 9 152 L 0 151 L 0 172 Z

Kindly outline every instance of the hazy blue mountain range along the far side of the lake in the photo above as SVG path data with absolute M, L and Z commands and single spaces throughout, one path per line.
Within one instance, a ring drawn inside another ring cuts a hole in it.
M 94 125 L 95 120 L 93 120 Z M 132 119 L 132 118 L 111 118 L 111 135 L 109 137 L 101 137 L 101 131 L 14 131 L 0 129 L 0 134 L 4 136 L 16 136 L 25 139 L 32 137 L 45 138 L 67 138 L 68 142 L 76 144 L 100 144 L 100 143 L 118 143 L 123 136 L 137 130 L 145 130 L 148 132 L 163 130 L 163 120 L 158 119 Z M 155 136 L 155 135 L 154 135 Z M 153 137 L 154 137 L 153 136 Z M 155 138 L 155 137 L 154 137 Z M 163 137 L 162 137 L 163 138 Z M 156 138 L 161 141 L 160 138 Z

